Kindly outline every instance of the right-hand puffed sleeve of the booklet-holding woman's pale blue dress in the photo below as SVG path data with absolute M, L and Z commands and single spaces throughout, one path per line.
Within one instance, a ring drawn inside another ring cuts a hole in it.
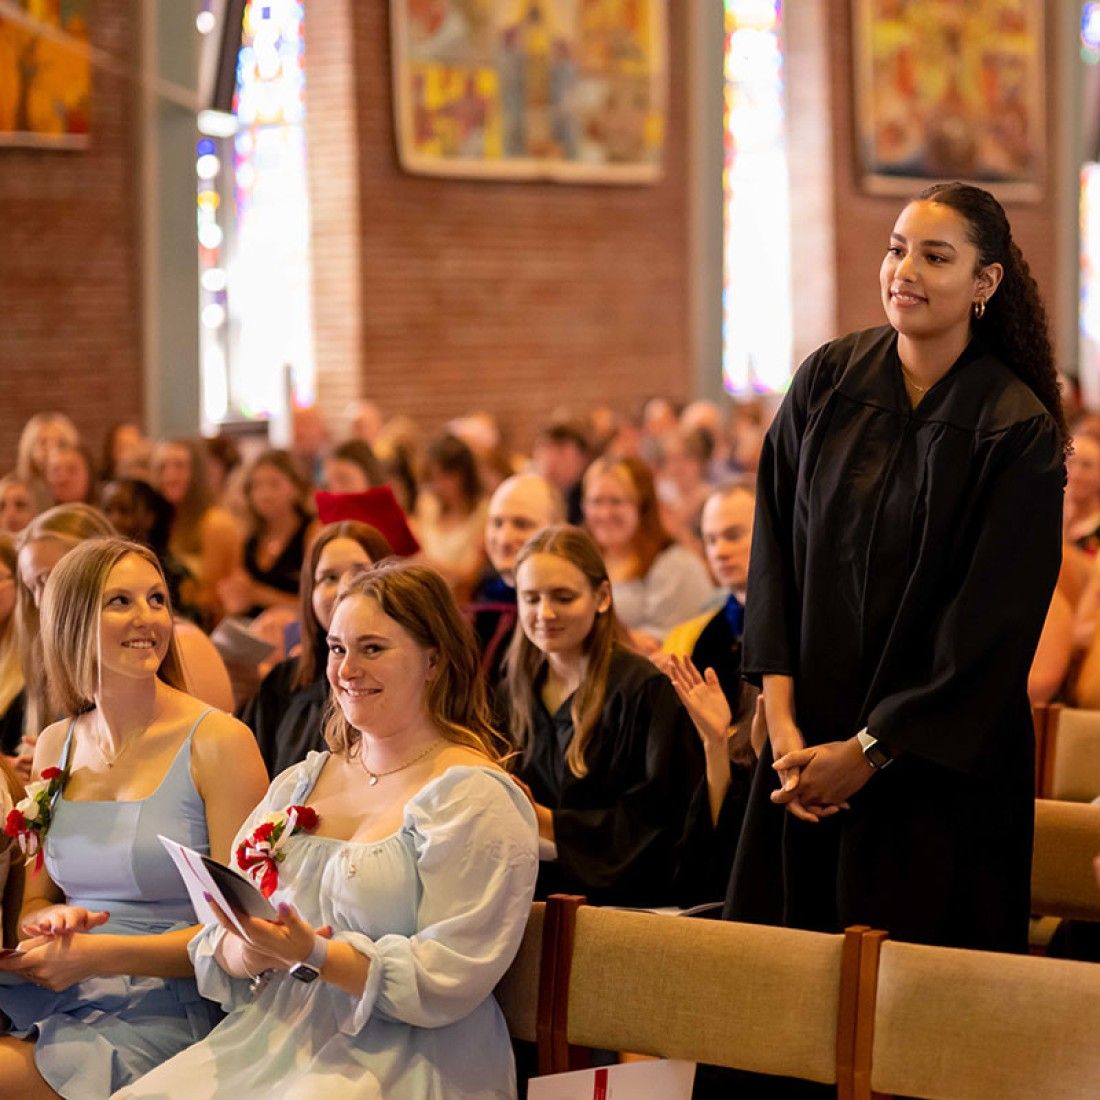
M 508 969 L 527 925 L 538 873 L 538 822 L 507 776 L 451 768 L 406 810 L 420 902 L 411 936 L 339 931 L 371 960 L 355 998 L 332 988 L 338 1026 L 372 1016 L 443 1027 L 469 1015 Z

